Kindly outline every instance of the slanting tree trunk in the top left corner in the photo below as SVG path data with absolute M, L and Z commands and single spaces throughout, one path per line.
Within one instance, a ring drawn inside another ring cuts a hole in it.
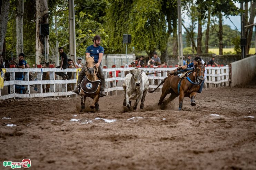
M 9 0 L 1 0 L 1 14 L 0 14 L 0 55 L 3 53 L 3 42 L 7 30 L 8 13 L 10 7 Z

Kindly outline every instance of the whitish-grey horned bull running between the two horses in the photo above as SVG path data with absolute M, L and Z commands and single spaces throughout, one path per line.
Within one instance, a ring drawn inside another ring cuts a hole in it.
M 133 109 L 136 110 L 139 101 L 141 100 L 140 109 L 144 107 L 144 101 L 148 92 L 148 77 L 143 70 L 135 68 L 129 70 L 129 74 L 125 76 L 123 83 L 125 91 L 124 106 L 131 107 L 131 101 L 136 100 Z

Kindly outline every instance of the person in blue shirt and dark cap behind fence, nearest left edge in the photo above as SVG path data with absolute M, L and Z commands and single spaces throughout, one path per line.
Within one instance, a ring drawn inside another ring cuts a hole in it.
M 19 55 L 19 63 L 17 65 L 17 68 L 25 68 L 26 67 L 26 61 L 24 61 L 24 54 L 20 53 Z M 23 72 L 16 72 L 15 73 L 15 80 L 23 80 L 24 74 Z M 27 88 L 22 87 L 21 85 L 15 84 L 15 89 L 19 90 L 19 92 L 26 93 Z

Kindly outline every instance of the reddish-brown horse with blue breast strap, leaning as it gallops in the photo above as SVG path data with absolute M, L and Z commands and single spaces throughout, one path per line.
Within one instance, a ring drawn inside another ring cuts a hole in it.
M 169 75 L 166 77 L 159 84 L 160 86 L 164 83 L 158 105 L 166 106 L 170 101 L 179 96 L 179 110 L 182 108 L 184 97 L 189 97 L 191 99 L 191 105 L 195 106 L 196 102 L 194 98 L 196 97 L 196 93 L 199 90 L 202 81 L 204 80 L 205 64 L 202 64 L 199 61 L 197 66 L 195 66 L 195 70 L 183 79 L 180 79 L 179 76 L 174 75 Z M 178 87 L 180 88 L 178 89 Z M 154 91 L 149 92 L 152 93 Z M 171 93 L 170 97 L 164 101 L 166 95 L 169 93 Z

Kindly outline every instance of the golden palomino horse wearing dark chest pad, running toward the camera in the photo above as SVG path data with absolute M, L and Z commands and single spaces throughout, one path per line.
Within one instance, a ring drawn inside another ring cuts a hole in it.
M 86 71 L 85 78 L 83 78 L 81 82 L 81 112 L 85 109 L 85 100 L 86 97 L 90 97 L 93 99 L 90 108 L 94 109 L 95 104 L 98 104 L 100 97 L 100 80 L 97 77 L 94 69 L 95 63 L 92 57 L 86 57 Z

